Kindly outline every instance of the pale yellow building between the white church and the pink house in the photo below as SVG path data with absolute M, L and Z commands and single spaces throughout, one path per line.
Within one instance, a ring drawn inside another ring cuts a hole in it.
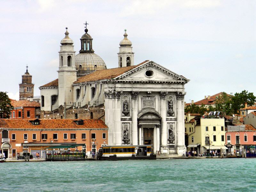
M 185 121 L 187 151 L 196 150 L 198 154 L 209 151 L 209 148 L 218 152 L 226 151 L 224 118 L 202 118 L 196 116 L 187 120 Z

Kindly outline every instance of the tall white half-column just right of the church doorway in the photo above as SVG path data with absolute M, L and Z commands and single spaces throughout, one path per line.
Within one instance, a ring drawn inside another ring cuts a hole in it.
M 160 108 L 161 108 L 161 146 L 167 145 L 167 123 L 166 123 L 166 94 L 168 92 L 160 92 Z

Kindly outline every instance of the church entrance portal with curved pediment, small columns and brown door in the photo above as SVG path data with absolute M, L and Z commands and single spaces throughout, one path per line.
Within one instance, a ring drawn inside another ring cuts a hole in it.
M 146 108 L 138 114 L 139 145 L 153 145 L 154 153 L 160 150 L 161 116 L 154 109 Z

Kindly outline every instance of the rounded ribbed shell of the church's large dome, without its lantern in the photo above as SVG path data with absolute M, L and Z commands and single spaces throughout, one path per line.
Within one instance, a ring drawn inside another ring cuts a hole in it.
M 77 75 L 88 74 L 95 70 L 106 69 L 105 62 L 93 52 L 80 52 L 76 55 Z

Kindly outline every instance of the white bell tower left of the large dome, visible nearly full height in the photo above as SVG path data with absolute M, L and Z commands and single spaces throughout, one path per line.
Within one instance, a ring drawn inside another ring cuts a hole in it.
M 73 87 L 72 83 L 76 81 L 76 65 L 75 51 L 73 40 L 68 36 L 68 28 L 66 28 L 65 37 L 60 41 L 59 52 L 59 106 L 67 107 L 73 105 Z

